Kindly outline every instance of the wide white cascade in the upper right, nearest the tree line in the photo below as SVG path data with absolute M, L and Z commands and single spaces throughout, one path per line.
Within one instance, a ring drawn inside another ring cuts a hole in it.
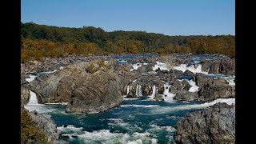
M 208 74 L 206 71 L 202 71 L 202 65 L 198 64 L 197 66 L 195 65 L 186 65 L 186 64 L 181 64 L 180 66 L 174 66 L 174 70 L 182 70 L 184 73 L 186 70 L 190 70 L 192 73 L 202 73 L 202 74 Z

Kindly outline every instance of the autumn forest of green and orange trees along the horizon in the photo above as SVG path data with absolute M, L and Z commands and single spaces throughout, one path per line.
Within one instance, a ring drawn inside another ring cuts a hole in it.
M 21 22 L 21 62 L 99 54 L 192 53 L 235 57 L 234 35 L 169 36 L 145 31 L 107 32 L 94 26 L 69 28 Z

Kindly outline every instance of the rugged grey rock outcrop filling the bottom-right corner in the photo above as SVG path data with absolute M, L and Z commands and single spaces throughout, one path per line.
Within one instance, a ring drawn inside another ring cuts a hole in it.
M 218 103 L 187 114 L 176 125 L 176 143 L 235 143 L 235 106 Z

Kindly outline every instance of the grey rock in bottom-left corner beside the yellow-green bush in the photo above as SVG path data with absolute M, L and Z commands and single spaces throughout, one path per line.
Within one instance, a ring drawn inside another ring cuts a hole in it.
M 68 144 L 69 142 L 59 140 L 59 134 L 61 131 L 57 129 L 57 125 L 54 120 L 50 118 L 49 114 L 38 114 L 36 111 L 30 112 L 30 117 L 38 126 L 38 129 L 42 130 L 46 134 L 48 142 L 54 144 Z

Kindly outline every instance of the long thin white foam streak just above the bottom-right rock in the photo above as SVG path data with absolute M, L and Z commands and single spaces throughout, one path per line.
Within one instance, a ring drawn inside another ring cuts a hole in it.
M 151 109 L 150 113 L 152 114 L 166 114 L 170 113 L 170 111 L 178 111 L 178 110 L 192 110 L 192 109 L 202 109 L 208 106 L 213 106 L 218 102 L 226 102 L 228 105 L 232 105 L 235 103 L 235 98 L 218 98 L 213 102 L 205 102 L 202 104 L 192 104 L 192 105 L 183 105 L 183 106 L 161 106 L 155 109 Z

